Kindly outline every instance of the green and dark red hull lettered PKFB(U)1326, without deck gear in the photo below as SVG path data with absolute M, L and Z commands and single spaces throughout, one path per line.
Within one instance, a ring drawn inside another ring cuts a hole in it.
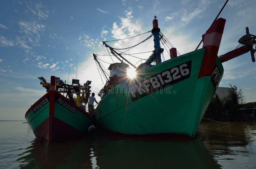
M 56 91 L 40 98 L 25 118 L 36 138 L 49 142 L 83 135 L 91 125 L 87 112 Z

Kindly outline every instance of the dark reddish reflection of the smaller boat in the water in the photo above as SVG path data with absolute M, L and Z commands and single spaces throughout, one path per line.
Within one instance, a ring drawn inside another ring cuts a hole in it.
M 51 144 L 35 139 L 26 150 L 17 159 L 21 169 L 91 168 L 91 139 L 87 137 Z

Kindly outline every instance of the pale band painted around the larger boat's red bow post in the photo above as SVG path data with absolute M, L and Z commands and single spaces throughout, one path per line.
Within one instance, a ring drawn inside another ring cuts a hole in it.
M 222 37 L 222 34 L 218 33 L 218 32 L 205 34 L 203 47 L 208 46 L 208 45 L 220 47 L 221 37 Z

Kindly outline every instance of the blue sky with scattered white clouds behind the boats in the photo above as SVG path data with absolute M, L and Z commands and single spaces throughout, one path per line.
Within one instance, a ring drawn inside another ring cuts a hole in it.
M 0 120 L 24 120 L 27 109 L 44 93 L 37 77 L 51 75 L 80 83 L 92 80 L 92 92 L 102 82 L 92 53 L 107 54 L 103 40 L 134 36 L 152 29 L 156 14 L 161 32 L 181 54 L 195 50 L 225 1 L 16 1 L 0 2 Z M 245 34 L 256 34 L 253 0 L 229 0 L 220 17 L 227 19 L 219 55 L 233 50 Z M 148 37 L 109 43 L 128 47 Z M 153 39 L 130 53 L 153 50 Z M 165 53 L 165 57 L 168 58 Z M 147 58 L 148 54 L 136 55 Z M 102 60 L 111 62 L 109 56 Z M 133 63 L 138 60 L 128 57 Z M 116 60 L 117 62 L 117 60 Z M 108 67 L 108 64 L 105 65 Z M 256 65 L 249 53 L 223 64 L 221 87 L 243 88 L 245 101 L 256 101 Z M 99 98 L 97 98 L 99 101 Z

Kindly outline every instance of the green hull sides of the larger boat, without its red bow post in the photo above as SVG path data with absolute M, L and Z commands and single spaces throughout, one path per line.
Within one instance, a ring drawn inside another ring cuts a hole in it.
M 204 54 L 205 49 L 200 49 L 181 55 L 144 70 L 135 80 L 117 85 L 104 96 L 94 112 L 98 126 L 125 135 L 179 134 L 194 137 L 219 85 L 213 80 L 219 82 L 223 75 L 223 66 L 217 59 L 218 77 L 216 71 L 212 76 L 199 77 Z M 168 86 L 165 82 L 170 79 L 166 71 L 172 72 L 184 63 L 187 66 L 181 66 L 183 70 L 180 70 L 184 76 L 171 74 L 172 81 Z M 174 80 L 174 76 L 178 78 Z M 148 77 L 158 77 L 158 82 L 163 82 L 162 88 L 153 89 L 151 93 L 137 91 L 131 94 L 131 86 Z M 127 89 L 129 92 L 124 91 Z

